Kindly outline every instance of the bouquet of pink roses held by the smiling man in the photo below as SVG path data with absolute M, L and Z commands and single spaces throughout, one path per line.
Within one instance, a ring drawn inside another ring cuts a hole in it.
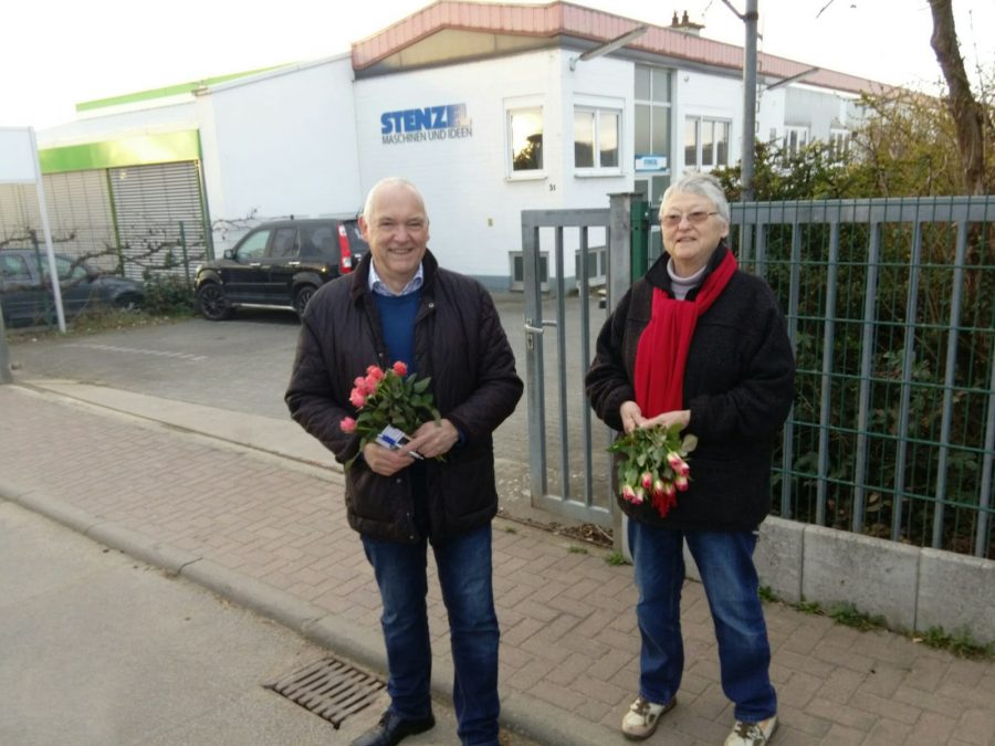
M 388 427 L 410 437 L 423 422 L 441 419 L 428 391 L 430 382 L 431 378 L 409 376 L 408 366 L 401 360 L 386 370 L 371 365 L 366 376 L 353 381 L 349 401 L 356 408 L 356 417 L 344 417 L 338 427 L 343 432 L 359 435 L 360 452 Z

